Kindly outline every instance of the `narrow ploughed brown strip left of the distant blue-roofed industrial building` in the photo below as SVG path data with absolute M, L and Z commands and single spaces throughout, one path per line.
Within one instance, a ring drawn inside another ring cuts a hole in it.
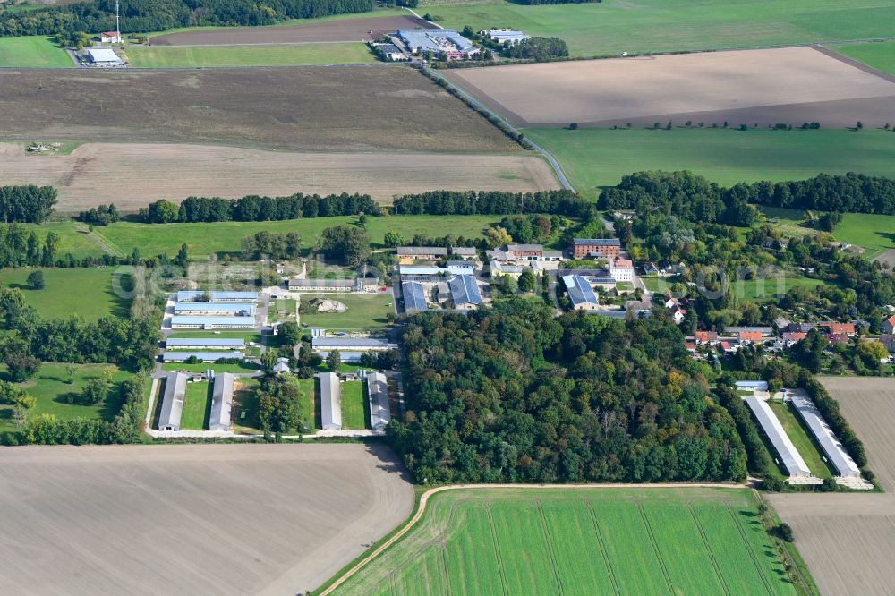
M 328 41 L 371 41 L 398 29 L 430 27 L 408 16 L 323 21 L 282 27 L 240 27 L 169 33 L 149 38 L 151 46 L 225 46 L 232 44 L 296 44 Z M 372 31 L 372 34 L 371 34 Z

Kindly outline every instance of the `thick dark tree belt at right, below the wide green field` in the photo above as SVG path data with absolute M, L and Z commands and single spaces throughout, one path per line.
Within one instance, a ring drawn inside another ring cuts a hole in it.
M 895 180 L 849 173 L 816 175 L 808 180 L 723 188 L 693 172 L 636 172 L 601 192 L 601 209 L 663 209 L 692 222 L 751 226 L 752 205 L 789 209 L 895 214 Z

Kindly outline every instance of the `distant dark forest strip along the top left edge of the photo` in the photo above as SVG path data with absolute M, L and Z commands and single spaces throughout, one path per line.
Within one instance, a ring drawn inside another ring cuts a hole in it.
M 121 0 L 122 30 L 146 33 L 199 25 L 272 25 L 288 19 L 365 13 L 373 0 Z M 4 14 L 0 36 L 99 33 L 115 30 L 115 0 L 50 6 Z

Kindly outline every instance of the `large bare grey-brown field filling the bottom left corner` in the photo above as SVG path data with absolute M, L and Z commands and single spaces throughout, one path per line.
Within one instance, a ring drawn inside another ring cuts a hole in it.
M 0 592 L 294 594 L 410 515 L 362 445 L 6 448 Z

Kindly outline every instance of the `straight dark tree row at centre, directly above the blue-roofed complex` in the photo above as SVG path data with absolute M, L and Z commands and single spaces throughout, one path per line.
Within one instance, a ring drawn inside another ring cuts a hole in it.
M 547 213 L 590 217 L 593 204 L 572 191 L 430 191 L 395 199 L 399 215 L 513 215 Z

